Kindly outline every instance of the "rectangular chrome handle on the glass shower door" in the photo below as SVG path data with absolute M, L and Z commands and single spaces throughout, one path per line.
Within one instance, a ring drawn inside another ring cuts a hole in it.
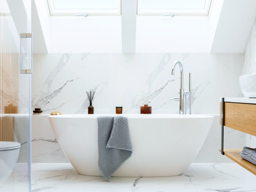
M 29 45 L 23 45 L 22 40 L 24 40 L 24 38 L 30 40 Z M 27 50 L 27 51 L 25 52 L 24 50 Z M 26 58 L 23 58 L 24 54 L 26 54 Z M 32 33 L 20 34 L 20 73 L 23 73 L 23 74 L 33 73 L 33 34 Z

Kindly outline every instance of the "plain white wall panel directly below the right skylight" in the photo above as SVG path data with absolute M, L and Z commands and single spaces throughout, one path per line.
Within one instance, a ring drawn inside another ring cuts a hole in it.
M 210 52 L 208 16 L 137 16 L 136 52 Z

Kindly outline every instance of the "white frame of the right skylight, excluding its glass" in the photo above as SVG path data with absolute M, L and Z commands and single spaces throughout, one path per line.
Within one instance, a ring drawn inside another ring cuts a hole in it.
M 137 0 L 137 15 L 195 15 L 207 16 L 210 12 L 212 0 L 206 0 L 204 9 L 140 9 L 140 1 Z

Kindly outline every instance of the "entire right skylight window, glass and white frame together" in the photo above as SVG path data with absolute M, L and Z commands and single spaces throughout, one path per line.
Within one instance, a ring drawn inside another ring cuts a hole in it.
M 211 0 L 138 0 L 138 15 L 208 15 Z

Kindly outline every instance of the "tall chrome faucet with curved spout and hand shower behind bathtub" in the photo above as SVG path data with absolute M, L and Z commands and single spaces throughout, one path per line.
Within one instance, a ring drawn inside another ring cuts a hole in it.
M 172 75 L 174 75 L 176 64 L 180 66 L 180 97 L 174 97 L 174 100 L 180 101 L 180 114 L 187 114 L 186 100 L 187 96 L 189 96 L 189 113 L 191 115 L 191 73 L 189 73 L 189 91 L 185 92 L 183 87 L 183 66 L 181 62 L 174 62 L 172 66 Z

